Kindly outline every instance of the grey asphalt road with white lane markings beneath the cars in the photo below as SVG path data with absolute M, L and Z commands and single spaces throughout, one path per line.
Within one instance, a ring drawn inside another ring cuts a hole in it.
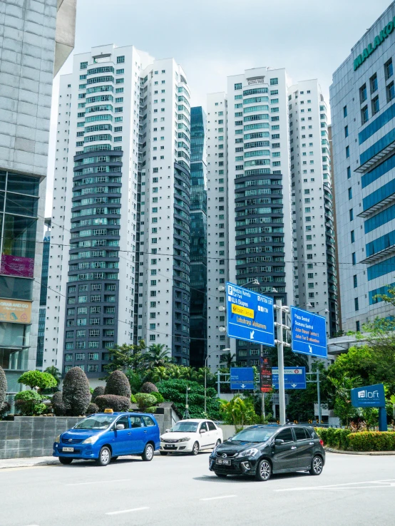
M 208 453 L 0 470 L 1 526 L 392 524 L 395 456 L 327 453 L 322 475 L 217 478 Z

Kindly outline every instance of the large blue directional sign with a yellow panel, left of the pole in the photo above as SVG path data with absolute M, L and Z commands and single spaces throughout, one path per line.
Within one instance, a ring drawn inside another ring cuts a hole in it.
M 232 283 L 226 284 L 227 336 L 275 346 L 273 299 Z

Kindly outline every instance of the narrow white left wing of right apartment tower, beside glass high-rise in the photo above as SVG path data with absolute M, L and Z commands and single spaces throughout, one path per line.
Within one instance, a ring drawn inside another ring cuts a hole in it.
M 227 179 L 227 97 L 207 95 L 207 363 L 216 370 L 222 349 L 235 351 L 235 341 L 220 333 L 225 324 L 224 287 L 229 276 L 229 195 Z M 231 347 L 232 345 L 232 347 Z

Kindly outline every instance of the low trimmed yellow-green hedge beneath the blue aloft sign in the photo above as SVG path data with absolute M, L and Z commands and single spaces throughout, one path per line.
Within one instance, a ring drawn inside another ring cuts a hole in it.
M 344 451 L 394 451 L 394 431 L 359 431 L 350 429 L 315 428 L 319 438 L 329 448 Z

